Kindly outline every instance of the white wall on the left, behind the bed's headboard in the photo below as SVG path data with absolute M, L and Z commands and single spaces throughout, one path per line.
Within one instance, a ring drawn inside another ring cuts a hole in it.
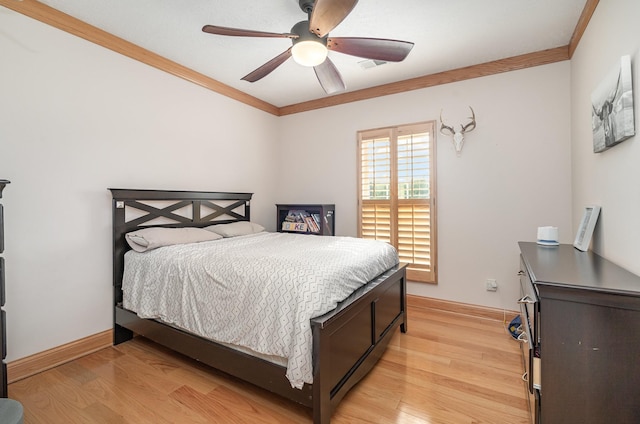
M 112 326 L 108 187 L 254 192 L 273 221 L 278 118 L 2 7 L 0 52 L 9 361 Z

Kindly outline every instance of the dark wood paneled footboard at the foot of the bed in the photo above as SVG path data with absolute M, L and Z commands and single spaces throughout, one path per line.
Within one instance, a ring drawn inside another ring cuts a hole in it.
M 329 423 L 349 389 L 378 362 L 396 328 L 406 333 L 405 267 L 388 270 L 311 320 L 314 424 Z

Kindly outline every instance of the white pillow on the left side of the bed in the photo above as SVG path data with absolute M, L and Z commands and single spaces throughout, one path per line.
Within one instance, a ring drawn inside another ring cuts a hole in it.
M 221 235 L 206 231 L 204 228 L 163 228 L 152 227 L 125 234 L 129 246 L 136 252 L 146 252 L 172 244 L 198 243 L 219 240 Z

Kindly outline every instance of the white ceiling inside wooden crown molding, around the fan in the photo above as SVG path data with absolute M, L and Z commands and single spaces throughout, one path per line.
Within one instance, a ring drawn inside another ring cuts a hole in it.
M 289 32 L 306 20 L 298 0 L 40 0 L 93 26 L 275 106 L 327 96 L 312 68 L 285 62 L 265 78 L 240 78 L 291 46 L 288 39 L 226 37 L 206 24 Z M 347 91 L 569 44 L 586 0 L 360 0 L 334 37 L 412 41 L 399 63 L 365 69 L 329 55 Z

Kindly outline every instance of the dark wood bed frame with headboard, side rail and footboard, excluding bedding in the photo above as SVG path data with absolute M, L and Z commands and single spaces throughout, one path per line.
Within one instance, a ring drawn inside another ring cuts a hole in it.
M 114 344 L 140 335 L 312 409 L 329 423 L 346 393 L 376 364 L 399 327 L 407 331 L 405 265 L 372 277 L 329 312 L 309 320 L 312 381 L 292 386 L 286 364 L 214 342 L 123 305 L 125 239 L 142 228 L 205 228 L 250 222 L 250 193 L 110 189 L 113 197 Z M 302 238 L 318 236 L 297 236 Z M 217 243 L 217 242 L 212 242 Z M 131 255 L 131 254 L 129 254 Z

